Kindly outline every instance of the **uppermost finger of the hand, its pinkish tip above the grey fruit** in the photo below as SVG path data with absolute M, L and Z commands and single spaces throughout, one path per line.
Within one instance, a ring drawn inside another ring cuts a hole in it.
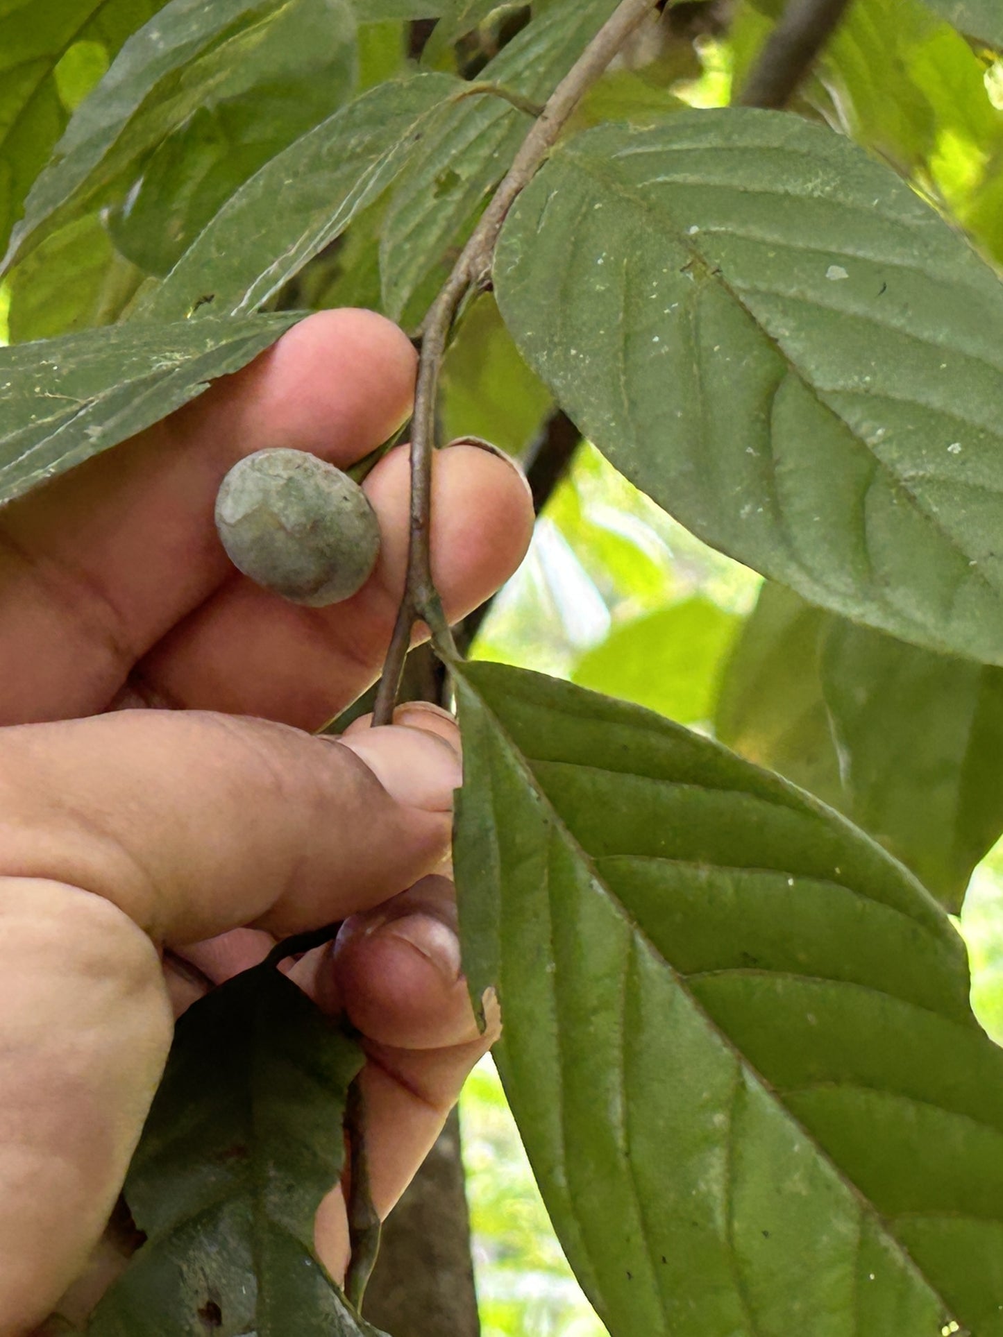
M 346 465 L 411 406 L 415 352 L 372 312 L 321 312 L 178 413 L 5 508 L 0 722 L 103 710 L 230 575 L 213 504 L 271 445 Z

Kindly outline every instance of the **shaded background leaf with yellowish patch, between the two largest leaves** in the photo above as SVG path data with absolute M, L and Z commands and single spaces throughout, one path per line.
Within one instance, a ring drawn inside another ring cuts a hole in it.
M 714 733 L 749 761 L 843 808 L 840 759 L 818 678 L 829 614 L 765 584 L 725 666 Z

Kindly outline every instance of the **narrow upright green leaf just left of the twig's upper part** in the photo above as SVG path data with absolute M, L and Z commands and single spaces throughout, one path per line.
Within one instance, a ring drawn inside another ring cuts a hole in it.
M 534 19 L 477 76 L 526 98 L 546 99 L 602 27 L 615 0 L 558 5 Z M 457 234 L 508 170 L 530 116 L 488 95 L 441 110 L 425 144 L 403 172 L 382 230 L 384 309 L 400 320 L 429 269 L 443 263 Z

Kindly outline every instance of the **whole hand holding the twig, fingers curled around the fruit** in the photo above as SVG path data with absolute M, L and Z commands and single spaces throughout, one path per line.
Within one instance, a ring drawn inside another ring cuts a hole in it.
M 378 673 L 404 584 L 408 459 L 365 483 L 365 587 L 304 608 L 229 566 L 217 487 L 271 445 L 340 467 L 405 418 L 415 353 L 324 312 L 132 441 L 0 512 L 0 1334 L 82 1324 L 173 1019 L 280 937 L 346 919 L 292 975 L 362 1031 L 385 1214 L 492 1039 L 448 878 L 459 734 L 431 706 L 313 737 Z M 436 457 L 432 552 L 457 619 L 516 568 L 532 507 L 504 459 Z M 496 1027 L 495 1019 L 495 1027 Z M 332 1136 L 340 1136 L 337 1127 Z M 344 1273 L 334 1187 L 316 1226 Z

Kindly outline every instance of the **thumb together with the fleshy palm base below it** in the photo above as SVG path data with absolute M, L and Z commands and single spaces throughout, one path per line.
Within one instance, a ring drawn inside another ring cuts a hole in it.
M 4 731 L 0 1333 L 86 1269 L 120 1189 L 170 1044 L 154 943 L 318 927 L 433 868 L 460 762 L 428 719 L 344 743 L 160 711 Z

